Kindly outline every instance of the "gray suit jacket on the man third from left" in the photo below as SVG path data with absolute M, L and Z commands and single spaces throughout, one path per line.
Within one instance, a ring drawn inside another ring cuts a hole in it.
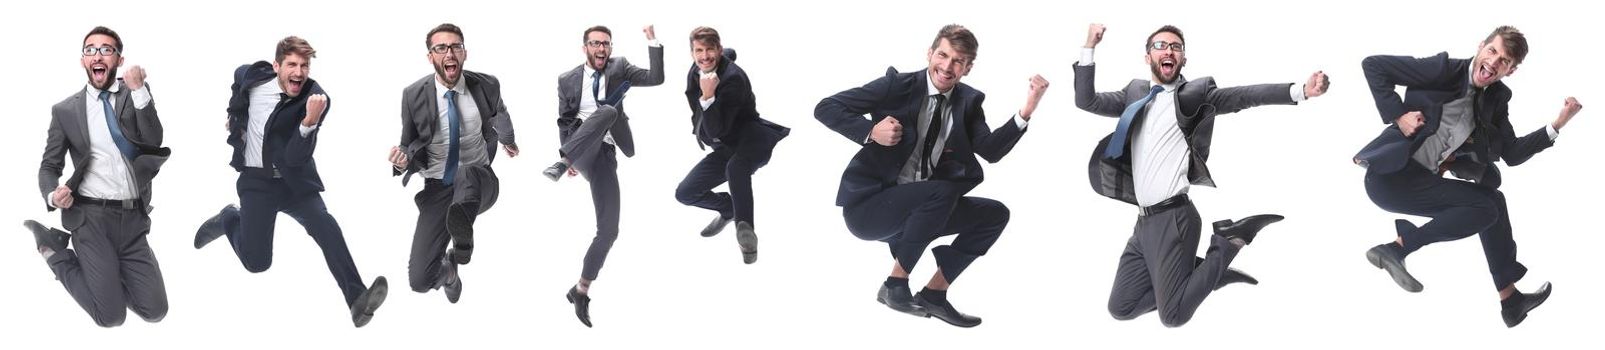
M 473 106 L 480 109 L 480 135 L 485 136 L 485 156 L 496 161 L 496 143 L 515 144 L 512 116 L 501 98 L 501 80 L 496 75 L 462 71 L 464 87 L 473 96 Z M 404 170 L 392 167 L 392 177 L 401 177 L 406 186 L 412 173 L 429 169 L 429 144 L 435 141 L 440 130 L 440 106 L 435 104 L 435 74 L 425 75 L 401 90 L 401 151 L 408 156 Z

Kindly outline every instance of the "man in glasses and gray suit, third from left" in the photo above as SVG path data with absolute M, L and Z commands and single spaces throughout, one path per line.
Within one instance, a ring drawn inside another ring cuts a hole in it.
M 473 222 L 496 204 L 501 188 L 491 170 L 496 143 L 509 157 L 518 156 L 518 144 L 501 80 L 462 67 L 469 61 L 462 29 L 435 26 L 424 35 L 424 48 L 435 74 L 401 90 L 401 143 L 390 148 L 390 170 L 401 177 L 401 186 L 414 173 L 424 178 L 412 196 L 417 226 L 408 284 L 414 292 L 443 287 L 446 300 L 456 303 L 462 297 L 457 265 L 473 254 Z

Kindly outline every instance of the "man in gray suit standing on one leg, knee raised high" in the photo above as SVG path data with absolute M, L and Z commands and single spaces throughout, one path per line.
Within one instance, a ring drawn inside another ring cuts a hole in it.
M 591 281 L 602 271 L 602 263 L 618 239 L 618 159 L 613 153 L 618 149 L 626 157 L 636 156 L 636 138 L 629 132 L 629 117 L 624 116 L 624 92 L 631 85 L 663 83 L 663 43 L 652 26 L 640 32 L 650 42 L 650 69 L 613 58 L 613 31 L 594 26 L 581 37 L 584 42 L 579 50 L 586 55 L 586 63 L 557 75 L 557 138 L 562 143 L 557 156 L 562 161 L 542 173 L 552 181 L 563 173 L 584 175 L 591 183 L 597 234 L 586 250 L 579 283 L 565 295 L 586 328 L 591 326 Z

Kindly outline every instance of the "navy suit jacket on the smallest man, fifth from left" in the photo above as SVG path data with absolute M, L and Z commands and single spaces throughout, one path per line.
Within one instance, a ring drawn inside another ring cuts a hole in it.
M 767 159 L 767 153 L 791 133 L 791 128 L 764 120 L 758 116 L 758 103 L 753 96 L 753 82 L 746 79 L 746 71 L 735 66 L 735 50 L 725 48 L 724 59 L 719 59 L 719 85 L 714 87 L 713 104 L 708 111 L 701 108 L 701 71 L 692 64 L 685 75 L 685 103 L 692 108 L 692 135 L 697 135 L 697 146 L 714 149 L 733 146 L 738 154 Z M 762 154 L 762 156 L 761 156 Z

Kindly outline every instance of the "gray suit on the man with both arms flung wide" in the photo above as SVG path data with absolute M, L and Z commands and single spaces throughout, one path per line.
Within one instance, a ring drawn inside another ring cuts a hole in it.
M 1075 106 L 1083 111 L 1120 117 L 1127 106 L 1143 100 L 1149 92 L 1148 80 L 1132 80 L 1124 90 L 1098 93 L 1093 90 L 1095 72 L 1095 66 L 1075 66 Z M 1215 116 L 1265 104 L 1295 104 L 1289 95 L 1290 83 L 1218 88 L 1210 77 L 1199 80 L 1178 77 L 1176 83 L 1175 117 L 1176 127 L 1186 138 L 1188 180 L 1193 185 L 1215 186 L 1209 167 L 1204 165 L 1209 159 Z M 1103 156 L 1112 133 L 1093 148 L 1088 180 L 1098 194 L 1136 204 L 1132 143 L 1136 141 L 1143 127 L 1141 119 L 1146 116 L 1148 106 L 1143 106 L 1132 122 L 1132 136 L 1127 138 L 1127 144 L 1120 144 L 1127 148 L 1120 157 Z M 1144 209 L 1120 254 L 1114 287 L 1109 292 L 1109 313 L 1115 319 L 1132 319 L 1156 308 L 1159 321 L 1165 326 L 1175 328 L 1193 319 L 1193 313 L 1218 286 L 1239 249 L 1228 239 L 1210 234 L 1212 244 L 1204 258 L 1194 257 L 1201 226 L 1199 212 L 1184 194 Z

